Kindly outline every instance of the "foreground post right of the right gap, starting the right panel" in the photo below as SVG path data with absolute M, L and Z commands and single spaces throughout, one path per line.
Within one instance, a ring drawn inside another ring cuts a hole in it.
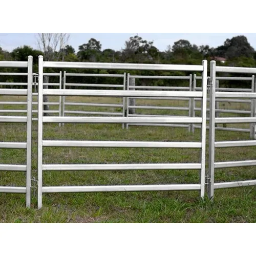
M 209 199 L 214 198 L 214 163 L 215 163 L 215 86 L 216 86 L 216 61 L 210 62 L 210 115 L 209 115 L 209 167 L 207 190 Z

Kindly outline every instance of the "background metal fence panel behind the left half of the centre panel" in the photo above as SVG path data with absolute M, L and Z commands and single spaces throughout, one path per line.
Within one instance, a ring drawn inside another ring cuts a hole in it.
M 96 84 L 96 83 L 68 83 L 67 76 L 78 76 L 78 77 L 119 77 L 123 78 L 122 84 Z M 63 76 L 63 89 L 65 90 L 67 87 L 79 88 L 108 88 L 111 89 L 122 89 L 125 90 L 126 84 L 126 73 L 124 74 L 76 74 L 76 73 L 66 73 L 64 72 Z M 61 97 L 61 96 L 60 96 Z M 95 106 L 97 108 L 114 108 L 114 109 L 122 109 L 122 113 L 117 111 L 77 111 L 77 110 L 67 110 L 66 106 Z M 123 97 L 122 104 L 104 104 L 104 103 L 84 103 L 84 102 L 66 102 L 65 96 L 62 96 L 62 116 L 65 114 L 79 114 L 79 115 L 100 115 L 100 116 L 125 116 L 125 97 Z M 62 123 L 64 125 L 64 123 Z M 122 124 L 122 128 L 124 129 L 124 124 Z

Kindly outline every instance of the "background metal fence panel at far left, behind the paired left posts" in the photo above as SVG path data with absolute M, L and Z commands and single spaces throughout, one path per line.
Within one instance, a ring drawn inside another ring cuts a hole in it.
M 36 82 L 36 73 L 33 73 L 34 76 L 34 92 L 33 92 L 33 96 L 38 96 L 38 93 L 36 92 L 36 87 L 38 86 L 38 83 Z M 59 82 L 58 83 L 44 83 L 45 87 L 58 87 L 59 89 L 61 89 L 61 83 L 62 83 L 62 75 L 61 75 L 61 71 L 59 73 L 44 73 L 45 76 L 59 76 Z M 28 73 L 0 73 L 0 76 L 28 76 Z M 9 88 L 10 86 L 26 86 L 27 87 L 27 82 L 0 82 L 0 86 L 5 86 L 7 88 Z M 25 96 L 26 94 L 24 94 Z M 27 102 L 23 102 L 23 101 L 0 101 L 0 106 L 1 105 L 26 105 Z M 36 101 L 32 102 L 32 105 L 37 105 L 37 99 Z M 44 103 L 45 105 L 58 105 L 59 108 L 58 110 L 49 110 L 49 111 L 44 111 L 44 113 L 51 113 L 51 114 L 58 114 L 59 116 L 61 116 L 61 97 L 59 97 L 59 102 L 46 102 Z M 0 113 L 27 113 L 27 110 L 20 110 L 20 109 L 7 109 L 7 110 L 3 110 L 0 109 Z M 33 110 L 32 113 L 37 113 L 37 110 Z M 37 118 L 33 118 L 32 117 L 32 121 L 37 121 Z

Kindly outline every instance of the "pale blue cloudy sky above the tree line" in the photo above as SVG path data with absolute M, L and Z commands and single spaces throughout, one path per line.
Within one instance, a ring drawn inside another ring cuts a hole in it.
M 218 47 L 227 38 L 244 35 L 251 46 L 256 49 L 256 33 L 70 33 L 69 45 L 78 50 L 78 47 L 88 42 L 90 38 L 100 41 L 102 50 L 121 50 L 124 48 L 124 41 L 131 36 L 139 34 L 143 39 L 154 41 L 154 46 L 160 51 L 165 51 L 168 45 L 173 45 L 175 41 L 186 39 L 190 44 L 209 45 Z M 23 45 L 29 45 L 37 49 L 37 33 L 0 33 L 0 47 L 7 51 Z

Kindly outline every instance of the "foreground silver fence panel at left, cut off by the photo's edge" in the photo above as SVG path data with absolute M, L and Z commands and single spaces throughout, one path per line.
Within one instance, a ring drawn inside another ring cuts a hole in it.
M 32 81 L 33 81 L 33 57 L 28 61 L 0 61 L 0 67 L 27 68 L 27 89 L 0 89 L 0 95 L 24 95 L 27 96 L 27 116 L 0 116 L 0 123 L 27 123 L 26 142 L 0 142 L 0 148 L 23 149 L 27 151 L 26 165 L 0 164 L 0 171 L 26 172 L 26 187 L 0 186 L 0 193 L 26 194 L 26 206 L 31 203 L 31 140 L 32 140 Z M 0 73 L 1 74 L 1 73 Z M 1 158 L 0 158 L 1 161 Z

